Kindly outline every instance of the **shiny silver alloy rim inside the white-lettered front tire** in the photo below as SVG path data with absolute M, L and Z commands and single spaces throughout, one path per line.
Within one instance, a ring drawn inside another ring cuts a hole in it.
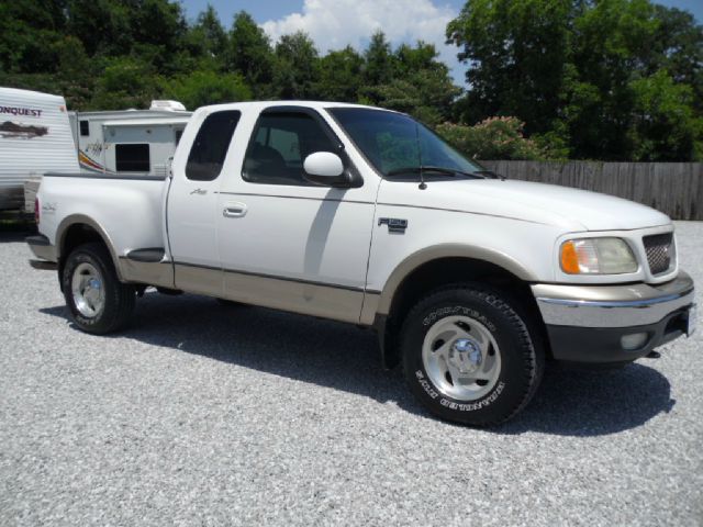
M 447 316 L 425 335 L 422 360 L 442 394 L 476 401 L 488 394 L 501 372 L 501 354 L 488 328 L 468 316 Z

